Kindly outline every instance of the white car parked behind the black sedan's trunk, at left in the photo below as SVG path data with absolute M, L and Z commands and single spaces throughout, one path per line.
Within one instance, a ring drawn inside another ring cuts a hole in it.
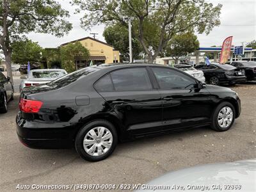
M 30 70 L 27 78 L 20 77 L 20 79 L 23 79 L 20 83 L 20 91 L 26 86 L 49 83 L 66 74 L 68 74 L 67 71 L 59 68 Z

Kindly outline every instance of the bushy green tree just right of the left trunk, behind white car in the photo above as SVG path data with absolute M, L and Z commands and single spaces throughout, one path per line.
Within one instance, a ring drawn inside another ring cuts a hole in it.
M 42 47 L 37 42 L 31 40 L 13 42 L 11 48 L 13 63 L 26 64 L 28 61 L 39 63 L 42 59 Z

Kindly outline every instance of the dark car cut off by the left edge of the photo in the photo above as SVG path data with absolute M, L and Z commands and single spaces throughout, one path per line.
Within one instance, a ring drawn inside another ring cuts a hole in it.
M 13 100 L 13 86 L 10 77 L 6 78 L 0 72 L 0 113 L 6 113 L 8 110 L 7 102 Z

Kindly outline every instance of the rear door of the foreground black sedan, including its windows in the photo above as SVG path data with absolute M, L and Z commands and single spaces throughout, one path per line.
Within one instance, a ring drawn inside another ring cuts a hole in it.
M 161 129 L 161 96 L 153 88 L 146 67 L 114 70 L 102 77 L 95 84 L 95 89 L 132 135 L 150 134 Z

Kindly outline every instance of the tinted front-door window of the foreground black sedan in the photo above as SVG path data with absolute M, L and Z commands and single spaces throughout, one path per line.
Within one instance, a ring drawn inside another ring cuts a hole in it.
M 152 67 L 160 88 L 176 89 L 191 88 L 195 84 L 195 80 L 169 68 Z

